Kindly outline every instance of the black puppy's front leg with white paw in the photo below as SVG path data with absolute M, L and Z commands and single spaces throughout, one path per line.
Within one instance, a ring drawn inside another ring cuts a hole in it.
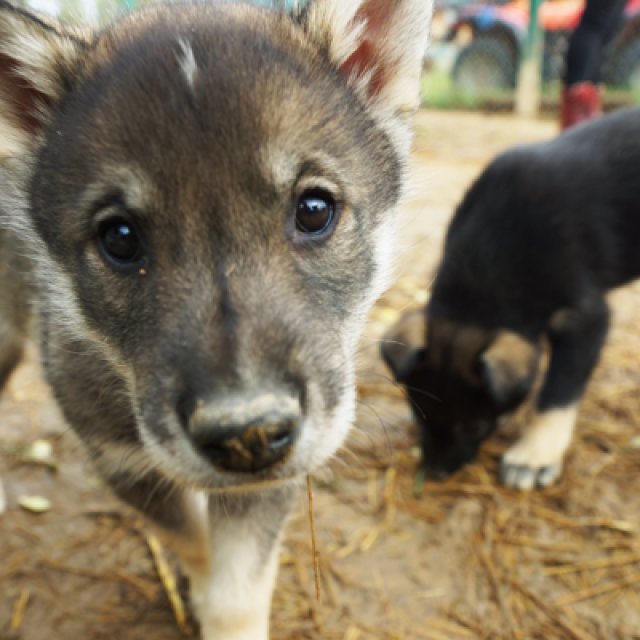
M 604 344 L 609 313 L 601 298 L 554 315 L 549 329 L 551 361 L 536 416 L 502 457 L 502 483 L 514 489 L 553 484 L 562 473 L 578 404 Z

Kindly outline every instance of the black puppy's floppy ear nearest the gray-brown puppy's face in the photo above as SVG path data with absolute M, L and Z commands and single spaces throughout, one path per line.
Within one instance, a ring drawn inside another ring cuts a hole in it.
M 424 309 L 405 313 L 389 329 L 380 343 L 380 351 L 393 377 L 402 382 L 422 359 L 426 350 L 427 320 Z

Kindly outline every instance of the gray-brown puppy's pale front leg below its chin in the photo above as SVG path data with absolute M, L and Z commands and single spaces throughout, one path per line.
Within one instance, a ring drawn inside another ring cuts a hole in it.
M 174 487 L 155 473 L 107 480 L 178 555 L 202 640 L 268 640 L 290 487 L 207 495 Z

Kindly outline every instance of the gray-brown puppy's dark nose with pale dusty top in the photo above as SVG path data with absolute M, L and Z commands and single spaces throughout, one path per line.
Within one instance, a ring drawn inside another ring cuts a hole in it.
M 189 420 L 196 449 L 214 467 L 257 473 L 283 462 L 300 432 L 299 403 L 276 395 L 201 404 Z

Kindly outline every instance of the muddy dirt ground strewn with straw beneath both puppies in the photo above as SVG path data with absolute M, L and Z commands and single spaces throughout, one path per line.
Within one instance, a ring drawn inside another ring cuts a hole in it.
M 553 133 L 551 122 L 419 114 L 398 281 L 363 340 L 357 425 L 314 479 L 320 601 L 301 495 L 274 640 L 640 639 L 640 286 L 612 296 L 613 329 L 577 441 L 562 481 L 545 491 L 497 484 L 508 429 L 475 464 L 414 495 L 415 433 L 377 357 L 385 327 L 424 301 L 446 222 L 473 176 L 500 149 Z M 35 362 L 32 354 L 0 399 L 0 640 L 187 637 L 142 522 L 101 485 Z M 52 444 L 54 463 L 27 459 L 38 439 Z M 51 508 L 19 506 L 33 495 Z

